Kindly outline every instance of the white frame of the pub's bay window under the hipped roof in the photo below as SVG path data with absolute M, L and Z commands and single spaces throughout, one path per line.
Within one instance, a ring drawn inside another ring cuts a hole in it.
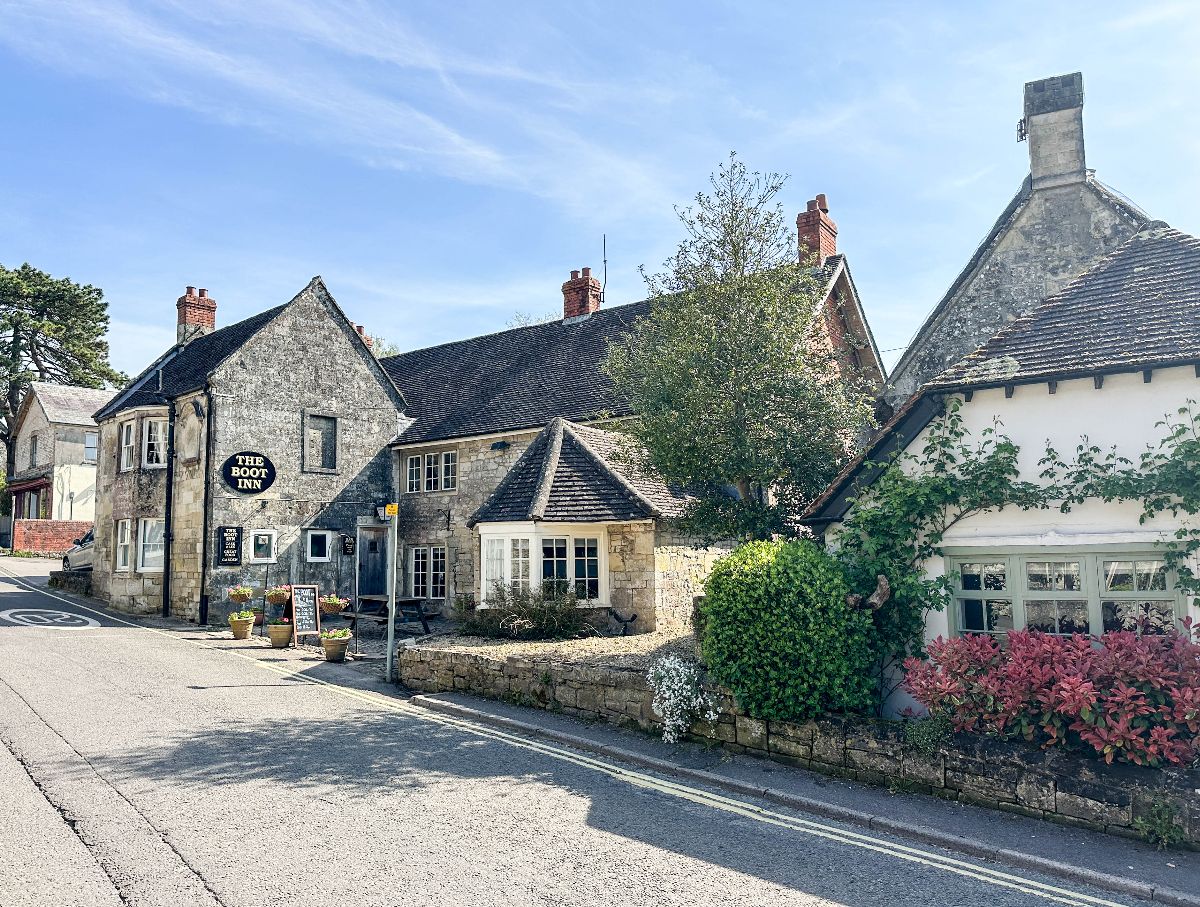
M 479 601 L 480 607 L 487 607 L 496 582 L 511 585 L 520 582 L 521 577 L 514 573 L 514 541 L 528 541 L 529 543 L 529 585 L 540 588 L 542 583 L 542 541 L 550 539 L 566 540 L 566 582 L 575 585 L 575 541 L 584 539 L 596 540 L 598 573 L 596 577 L 599 595 L 595 599 L 580 599 L 580 607 L 606 607 L 610 602 L 608 579 L 608 529 L 602 523 L 485 523 L 479 527 L 480 533 L 480 571 L 479 571 Z M 490 546 L 499 543 L 500 547 L 492 547 L 491 560 L 488 559 Z M 498 555 L 498 557 L 497 557 Z M 499 569 L 500 576 L 493 578 L 493 571 Z M 523 583 L 522 583 L 523 585 Z

